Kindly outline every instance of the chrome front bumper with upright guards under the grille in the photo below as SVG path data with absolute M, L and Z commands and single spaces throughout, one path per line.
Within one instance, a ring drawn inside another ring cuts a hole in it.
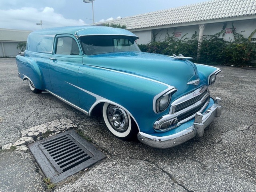
M 138 140 L 154 148 L 171 148 L 182 144 L 195 136 L 202 137 L 204 135 L 204 129 L 214 120 L 215 117 L 220 116 L 222 110 L 220 102 L 221 99 L 217 97 L 214 100 L 214 104 L 203 114 L 197 112 L 193 125 L 181 132 L 163 137 L 152 136 L 150 134 L 139 132 Z

